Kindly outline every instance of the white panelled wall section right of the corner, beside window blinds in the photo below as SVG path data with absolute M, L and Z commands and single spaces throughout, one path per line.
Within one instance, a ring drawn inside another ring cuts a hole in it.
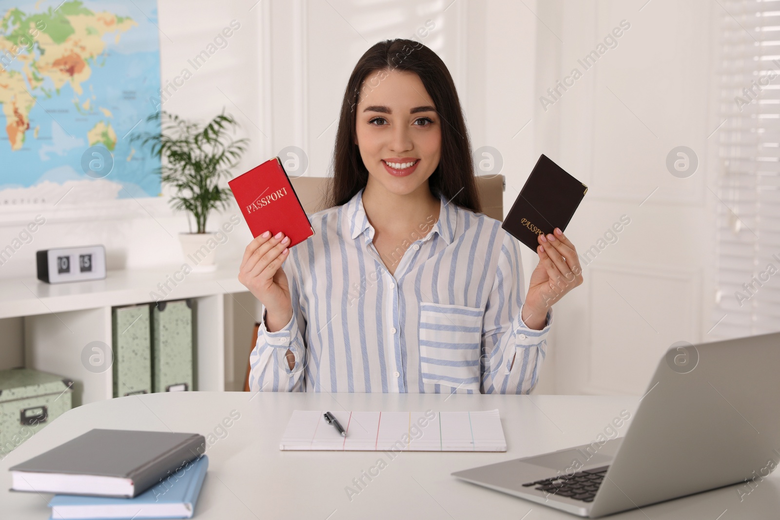
M 707 189 L 717 165 L 708 136 L 719 124 L 712 9 L 720 8 L 704 0 L 544 2 L 541 9 L 563 42 L 540 47 L 557 73 L 537 83 L 539 95 L 573 67 L 583 70 L 577 59 L 622 19 L 630 23 L 559 101 L 547 111 L 537 104 L 541 125 L 555 129 L 538 134 L 537 151 L 549 150 L 589 186 L 567 229 L 580 254 L 622 215 L 630 218 L 617 242 L 583 264 L 583 285 L 555 306 L 548 370 L 558 393 L 642 394 L 672 343 L 717 339 L 708 334 L 719 203 Z M 699 157 L 688 179 L 665 166 L 679 145 Z

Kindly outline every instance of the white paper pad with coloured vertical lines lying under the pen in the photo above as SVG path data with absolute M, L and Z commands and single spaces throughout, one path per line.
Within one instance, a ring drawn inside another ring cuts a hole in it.
M 342 437 L 324 411 L 295 410 L 280 450 L 506 451 L 498 409 L 477 412 L 335 412 Z

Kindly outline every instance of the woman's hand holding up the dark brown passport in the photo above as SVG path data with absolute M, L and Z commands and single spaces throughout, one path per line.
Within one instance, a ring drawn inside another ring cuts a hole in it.
M 539 235 L 539 264 L 537 264 L 523 304 L 523 322 L 530 328 L 541 330 L 547 319 L 548 309 L 567 292 L 583 283 L 580 258 L 574 244 L 559 228 L 550 235 Z M 534 325 L 539 325 L 535 327 Z

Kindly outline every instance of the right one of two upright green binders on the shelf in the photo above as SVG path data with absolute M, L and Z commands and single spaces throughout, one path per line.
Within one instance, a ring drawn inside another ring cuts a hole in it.
M 193 311 L 189 299 L 152 306 L 152 388 L 192 391 Z

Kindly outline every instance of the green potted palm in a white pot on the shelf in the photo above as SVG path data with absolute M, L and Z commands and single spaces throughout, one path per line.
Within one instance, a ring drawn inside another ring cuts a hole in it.
M 216 244 L 215 233 L 206 231 L 206 222 L 212 210 L 227 206 L 232 193 L 220 180 L 232 176 L 247 140 L 233 140 L 230 134 L 239 125 L 224 110 L 204 126 L 166 111 L 150 115 L 147 121 L 159 121 L 160 133 L 144 132 L 132 140 L 151 145 L 151 153 L 161 159 L 156 172 L 161 182 L 176 188 L 172 207 L 187 212 L 190 232 L 180 233 L 179 239 L 185 258 L 197 260 L 192 271 L 213 271 L 215 247 L 207 244 Z

